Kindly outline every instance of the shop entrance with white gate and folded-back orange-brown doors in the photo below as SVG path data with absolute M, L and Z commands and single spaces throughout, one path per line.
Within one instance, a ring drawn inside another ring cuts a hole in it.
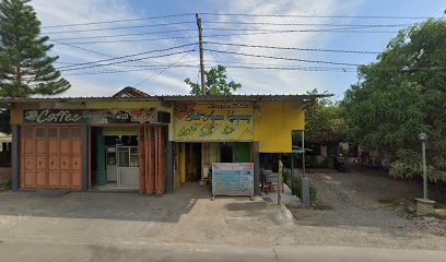
M 90 133 L 91 188 L 165 192 L 167 126 L 91 127 Z

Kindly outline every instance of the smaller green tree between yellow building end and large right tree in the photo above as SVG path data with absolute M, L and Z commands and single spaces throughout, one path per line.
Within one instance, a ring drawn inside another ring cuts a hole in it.
M 318 95 L 314 90 L 308 95 Z M 315 104 L 305 110 L 305 139 L 314 143 L 337 143 L 345 141 L 347 124 L 340 107 L 329 98 L 317 98 Z

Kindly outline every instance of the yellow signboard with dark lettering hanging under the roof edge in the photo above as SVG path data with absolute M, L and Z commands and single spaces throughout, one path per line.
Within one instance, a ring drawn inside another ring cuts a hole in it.
M 175 141 L 253 141 L 253 104 L 176 104 Z

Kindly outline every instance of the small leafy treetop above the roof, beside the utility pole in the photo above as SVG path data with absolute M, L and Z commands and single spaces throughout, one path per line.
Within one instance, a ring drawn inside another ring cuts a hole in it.
M 218 66 L 206 74 L 206 94 L 207 95 L 232 95 L 235 91 L 242 87 L 242 84 L 235 83 L 234 81 L 227 82 L 226 68 L 223 66 Z M 191 95 L 201 95 L 201 85 L 193 83 L 190 79 L 186 79 L 185 83 L 190 85 Z

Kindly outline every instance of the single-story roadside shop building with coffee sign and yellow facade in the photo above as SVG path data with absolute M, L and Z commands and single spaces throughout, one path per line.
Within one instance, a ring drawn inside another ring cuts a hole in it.
M 291 153 L 319 97 L 128 94 L 0 99 L 11 115 L 12 189 L 163 194 L 206 182 L 214 163 L 251 163 L 259 184 L 259 154 Z

